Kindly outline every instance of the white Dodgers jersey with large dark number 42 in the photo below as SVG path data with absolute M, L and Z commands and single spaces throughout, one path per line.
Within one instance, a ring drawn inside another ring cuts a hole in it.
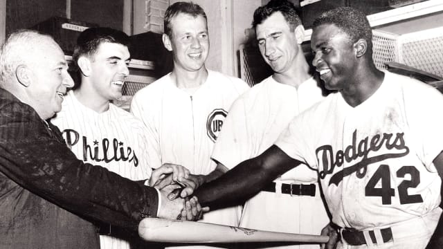
M 433 160 L 443 149 L 442 105 L 431 86 L 386 72 L 363 103 L 351 107 L 333 93 L 294 118 L 275 145 L 318 170 L 334 223 L 389 226 L 440 204 Z

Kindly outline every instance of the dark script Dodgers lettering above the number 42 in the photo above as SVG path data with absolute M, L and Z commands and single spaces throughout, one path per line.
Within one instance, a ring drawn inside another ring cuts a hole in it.
M 404 142 L 404 133 L 396 133 L 395 136 L 392 133 L 383 133 L 383 135 L 377 134 L 369 138 L 368 136 L 356 141 L 356 130 L 352 133 L 352 145 L 348 145 L 345 151 L 338 150 L 334 155 L 331 145 L 323 145 L 316 149 L 316 156 L 318 160 L 320 178 L 324 179 L 328 174 L 334 173 L 335 167 L 342 167 L 343 163 L 351 163 L 354 160 L 359 159 L 359 163 L 350 167 L 344 168 L 340 172 L 336 172 L 330 181 L 329 185 L 338 185 L 343 178 L 356 172 L 358 178 L 363 178 L 368 169 L 368 165 L 377 163 L 388 158 L 399 158 L 406 156 L 409 153 L 409 148 Z M 392 153 L 381 154 L 370 157 L 370 152 L 377 152 L 382 147 Z

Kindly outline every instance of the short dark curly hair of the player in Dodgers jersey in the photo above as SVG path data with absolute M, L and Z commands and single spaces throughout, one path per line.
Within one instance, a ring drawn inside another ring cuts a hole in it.
M 323 24 L 335 24 L 349 37 L 351 42 L 365 39 L 372 48 L 372 29 L 366 15 L 350 7 L 339 7 L 323 12 L 314 20 L 312 29 Z

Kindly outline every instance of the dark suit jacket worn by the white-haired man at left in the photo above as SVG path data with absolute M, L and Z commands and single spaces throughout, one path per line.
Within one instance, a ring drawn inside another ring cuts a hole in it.
M 0 248 L 100 248 L 89 220 L 135 231 L 158 198 L 78 160 L 57 127 L 0 89 Z

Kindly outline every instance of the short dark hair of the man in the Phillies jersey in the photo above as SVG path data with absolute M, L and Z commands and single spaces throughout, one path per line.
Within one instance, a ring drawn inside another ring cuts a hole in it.
M 80 33 L 77 38 L 72 56 L 75 65 L 77 65 L 77 60 L 82 55 L 92 58 L 102 42 L 122 44 L 129 48 L 129 37 L 123 31 L 104 27 L 88 28 Z

